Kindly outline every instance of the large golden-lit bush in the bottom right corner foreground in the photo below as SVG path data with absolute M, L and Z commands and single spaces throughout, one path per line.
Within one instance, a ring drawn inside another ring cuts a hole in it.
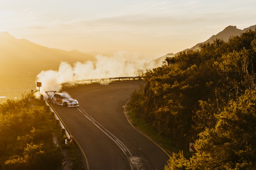
M 199 134 L 192 169 L 256 168 L 255 102 L 256 91 L 246 90 L 216 115 L 216 125 Z

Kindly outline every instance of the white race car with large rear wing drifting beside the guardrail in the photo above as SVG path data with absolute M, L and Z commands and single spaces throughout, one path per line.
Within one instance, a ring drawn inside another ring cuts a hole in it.
M 50 92 L 53 92 L 53 94 L 49 94 Z M 71 99 L 69 96 L 62 94 L 62 93 L 56 93 L 56 91 L 45 91 L 47 94 L 47 102 L 65 106 L 65 107 L 77 107 L 79 106 L 77 100 Z

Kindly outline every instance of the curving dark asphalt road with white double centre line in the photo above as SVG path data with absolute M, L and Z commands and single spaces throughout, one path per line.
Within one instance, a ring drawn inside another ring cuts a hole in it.
M 64 89 L 79 107 L 52 105 L 73 134 L 90 170 L 161 170 L 169 156 L 127 120 L 123 106 L 143 81 Z

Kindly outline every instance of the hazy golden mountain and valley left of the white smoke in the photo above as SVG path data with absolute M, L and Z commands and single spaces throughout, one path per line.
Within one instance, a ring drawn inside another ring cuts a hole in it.
M 19 98 L 25 91 L 35 90 L 36 75 L 42 70 L 58 70 L 61 61 L 73 65 L 88 60 L 94 60 L 94 55 L 48 48 L 1 32 L 0 104 L 8 98 Z

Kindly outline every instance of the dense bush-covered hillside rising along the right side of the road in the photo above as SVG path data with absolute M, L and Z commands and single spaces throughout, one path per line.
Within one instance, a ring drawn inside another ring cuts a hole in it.
M 255 65 L 256 30 L 249 30 L 142 74 L 145 87 L 128 108 L 180 150 L 170 150 L 165 170 L 256 169 Z M 190 157 L 189 143 L 198 151 Z

